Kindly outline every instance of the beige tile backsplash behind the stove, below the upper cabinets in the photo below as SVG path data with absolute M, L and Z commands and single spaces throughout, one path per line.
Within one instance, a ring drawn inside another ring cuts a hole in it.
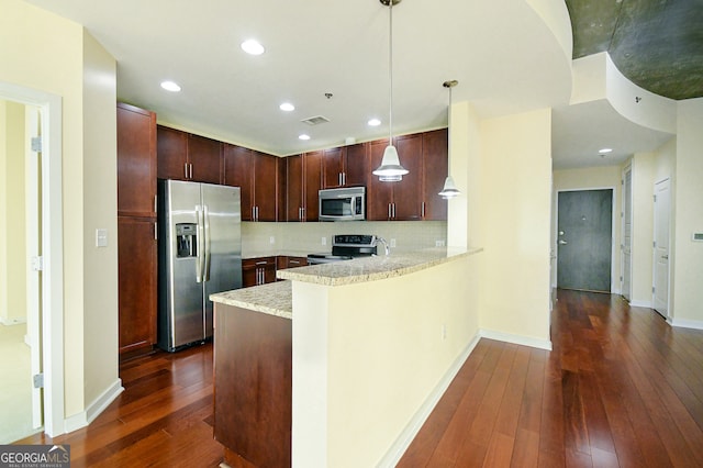
M 310 223 L 242 223 L 244 258 L 276 254 L 311 254 L 332 250 L 335 234 L 376 234 L 397 250 L 437 246 L 447 238 L 446 221 L 349 221 Z M 323 244 L 322 239 L 325 239 Z M 442 244 L 444 245 L 444 244 Z

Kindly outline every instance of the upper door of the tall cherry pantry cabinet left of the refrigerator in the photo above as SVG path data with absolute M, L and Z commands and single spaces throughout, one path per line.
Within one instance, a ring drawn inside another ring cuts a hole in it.
M 118 214 L 155 216 L 156 114 L 118 103 Z

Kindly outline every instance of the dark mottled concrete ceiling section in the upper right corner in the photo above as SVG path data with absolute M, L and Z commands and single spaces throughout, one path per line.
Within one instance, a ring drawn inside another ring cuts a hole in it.
M 703 0 L 566 0 L 573 58 L 607 52 L 655 94 L 703 97 Z

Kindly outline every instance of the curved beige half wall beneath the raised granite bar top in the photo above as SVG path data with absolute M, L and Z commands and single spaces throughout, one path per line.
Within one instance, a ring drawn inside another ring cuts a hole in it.
M 293 282 L 293 466 L 384 466 L 478 334 L 481 255 L 358 285 Z

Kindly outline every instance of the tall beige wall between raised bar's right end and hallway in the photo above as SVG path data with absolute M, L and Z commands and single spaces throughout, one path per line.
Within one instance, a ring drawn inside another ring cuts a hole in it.
M 481 122 L 480 326 L 549 341 L 551 111 Z

